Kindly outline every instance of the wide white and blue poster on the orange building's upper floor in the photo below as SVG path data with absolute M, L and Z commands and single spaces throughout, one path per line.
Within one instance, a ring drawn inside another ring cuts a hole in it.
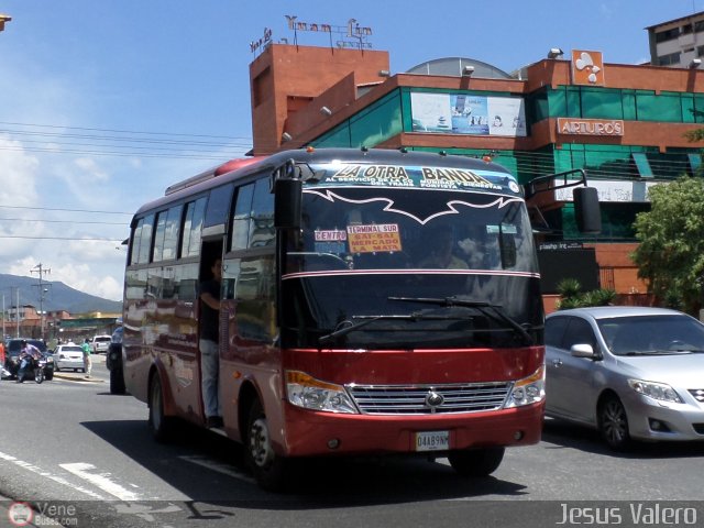
M 411 92 L 414 132 L 525 136 L 522 98 Z

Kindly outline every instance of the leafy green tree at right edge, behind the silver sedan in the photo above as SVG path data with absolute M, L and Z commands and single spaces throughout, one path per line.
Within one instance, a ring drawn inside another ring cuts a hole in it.
M 704 286 L 704 178 L 654 185 L 649 196 L 650 211 L 634 223 L 638 277 L 660 302 L 696 315 Z

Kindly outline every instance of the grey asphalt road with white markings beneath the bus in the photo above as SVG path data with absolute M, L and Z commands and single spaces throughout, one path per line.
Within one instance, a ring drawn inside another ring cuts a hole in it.
M 216 433 L 184 427 L 175 443 L 155 443 L 146 406 L 110 395 L 103 359 L 89 381 L 61 373 L 42 385 L 0 383 L 0 495 L 31 502 L 65 526 L 524 528 L 565 516 L 588 524 L 585 507 L 619 526 L 648 526 L 642 508 L 661 505 L 694 508 L 680 514 L 704 522 L 704 505 L 694 503 L 704 442 L 618 454 L 595 432 L 552 420 L 540 444 L 508 450 L 490 479 L 461 479 L 444 460 L 327 460 L 308 463 L 290 493 L 271 494 L 244 471 L 240 447 Z M 12 526 L 6 519 L 0 526 Z

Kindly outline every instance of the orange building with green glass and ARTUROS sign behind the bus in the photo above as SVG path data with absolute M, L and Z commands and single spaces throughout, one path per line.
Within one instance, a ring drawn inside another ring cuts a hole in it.
M 564 277 L 613 288 L 622 302 L 649 300 L 629 257 L 631 226 L 649 209 L 649 186 L 700 167 L 701 148 L 685 138 L 704 127 L 698 61 L 625 65 L 605 62 L 607 51 L 551 50 L 510 74 L 466 57 L 392 73 L 383 51 L 265 44 L 250 65 L 255 155 L 309 145 L 490 155 L 521 184 L 586 169 L 600 234 L 576 231 L 570 193 L 531 211 L 546 306 Z

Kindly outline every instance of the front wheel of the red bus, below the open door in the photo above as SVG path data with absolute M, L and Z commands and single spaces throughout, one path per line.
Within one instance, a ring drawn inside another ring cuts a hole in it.
M 258 399 L 254 400 L 250 410 L 244 458 L 262 488 L 271 492 L 284 490 L 288 461 L 274 452 L 266 415 Z

